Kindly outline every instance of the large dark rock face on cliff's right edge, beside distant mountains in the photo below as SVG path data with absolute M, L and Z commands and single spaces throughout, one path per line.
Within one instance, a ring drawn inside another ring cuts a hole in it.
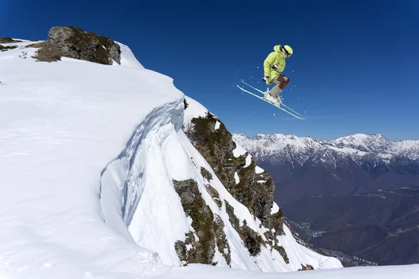
M 215 128 L 219 122 L 219 128 Z M 233 150 L 236 144 L 226 126 L 208 114 L 207 117 L 192 119 L 193 129 L 186 130 L 186 135 L 231 195 L 244 204 L 254 216 L 259 218 L 265 227 L 273 228 L 274 222 L 270 210 L 274 202 L 274 182 L 270 174 L 256 174 L 255 161 L 246 166 L 247 153 L 236 158 Z M 240 177 L 236 183 L 235 173 Z M 282 226 L 281 226 L 282 227 Z

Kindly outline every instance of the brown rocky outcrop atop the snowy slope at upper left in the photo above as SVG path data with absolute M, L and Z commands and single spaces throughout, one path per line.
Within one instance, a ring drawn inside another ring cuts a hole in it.
M 58 56 L 65 56 L 105 65 L 121 63 L 121 49 L 114 40 L 80 28 L 52 27 L 47 41 L 32 46 L 41 47 L 36 57 L 40 61 L 57 61 Z

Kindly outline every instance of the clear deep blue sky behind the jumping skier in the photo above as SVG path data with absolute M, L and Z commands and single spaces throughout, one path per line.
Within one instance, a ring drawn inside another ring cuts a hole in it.
M 419 140 L 418 0 L 0 0 L 0 37 L 45 40 L 66 25 L 128 45 L 233 133 Z M 304 121 L 236 87 L 266 89 L 278 44 L 293 47 L 284 103 Z

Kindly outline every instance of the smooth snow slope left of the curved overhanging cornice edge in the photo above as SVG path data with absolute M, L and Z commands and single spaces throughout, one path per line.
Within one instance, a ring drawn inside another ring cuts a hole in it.
M 147 116 L 163 110 L 153 120 L 165 123 L 181 112 L 183 94 L 128 47 L 122 66 L 103 66 L 36 62 L 28 44 L 0 52 L 0 278 L 135 278 L 164 268 L 115 225 L 120 201 L 99 199 L 101 173 Z

